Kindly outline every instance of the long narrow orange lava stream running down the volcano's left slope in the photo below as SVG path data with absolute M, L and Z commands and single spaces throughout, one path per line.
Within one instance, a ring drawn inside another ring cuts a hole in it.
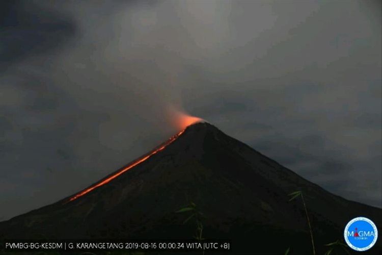
M 195 118 L 195 117 L 194 117 Z M 196 118 L 198 119 L 198 118 Z M 195 123 L 193 121 L 190 121 L 190 120 L 184 120 L 184 122 L 182 123 Z M 185 126 L 186 127 L 186 126 Z M 159 145 L 158 147 L 156 147 L 155 149 L 153 149 L 152 151 L 150 151 L 148 154 L 142 156 L 141 158 L 139 158 L 138 160 L 135 160 L 134 162 L 128 164 L 127 166 L 121 168 L 120 170 L 116 171 L 115 173 L 105 177 L 105 179 L 99 181 L 98 183 L 90 186 L 89 188 L 86 188 L 85 190 L 83 191 L 80 191 L 78 192 L 77 194 L 75 194 L 74 196 L 72 196 L 68 202 L 70 201 L 73 201 L 74 199 L 77 199 L 78 197 L 80 196 L 83 196 L 87 193 L 89 193 L 90 191 L 112 181 L 113 179 L 115 179 L 116 177 L 118 177 L 119 175 L 121 175 L 122 173 L 128 171 L 129 169 L 133 168 L 134 166 L 137 166 L 139 165 L 140 163 L 144 162 L 145 160 L 149 159 L 151 156 L 153 156 L 154 154 L 157 154 L 159 151 L 161 151 L 162 149 L 166 148 L 168 145 L 170 145 L 173 141 L 175 141 L 181 134 L 183 134 L 184 132 L 184 129 L 179 132 L 178 134 L 176 134 L 175 136 L 172 136 L 169 140 L 167 140 L 166 142 L 162 143 L 161 145 Z

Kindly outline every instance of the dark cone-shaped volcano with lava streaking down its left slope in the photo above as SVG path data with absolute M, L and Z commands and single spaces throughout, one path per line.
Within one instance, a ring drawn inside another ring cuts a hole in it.
M 127 169 L 127 170 L 126 170 Z M 229 254 L 317 254 L 343 240 L 352 218 L 374 221 L 382 210 L 349 201 L 305 180 L 250 146 L 203 122 L 52 205 L 0 223 L 3 239 L 192 239 L 195 222 L 176 213 L 190 203 L 203 217 L 203 237 L 231 240 Z M 380 232 L 381 233 L 381 232 Z M 381 251 L 380 238 L 366 254 Z

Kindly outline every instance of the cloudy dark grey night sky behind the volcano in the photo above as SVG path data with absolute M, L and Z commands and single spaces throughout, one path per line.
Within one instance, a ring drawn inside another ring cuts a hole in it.
M 335 194 L 382 206 L 380 1 L 0 10 L 0 219 L 166 140 L 174 108 Z

